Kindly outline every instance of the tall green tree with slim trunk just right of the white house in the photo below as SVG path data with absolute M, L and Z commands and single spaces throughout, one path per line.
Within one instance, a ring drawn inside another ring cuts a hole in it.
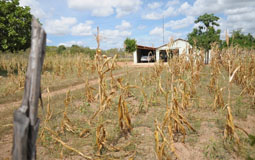
M 214 14 L 205 13 L 199 16 L 195 23 L 201 23 L 198 28 L 194 28 L 193 31 L 188 34 L 188 41 L 192 46 L 196 46 L 198 49 L 205 50 L 205 63 L 209 61 L 209 50 L 212 43 L 220 42 L 220 30 L 215 30 L 214 27 L 219 26 L 217 21 L 219 17 Z

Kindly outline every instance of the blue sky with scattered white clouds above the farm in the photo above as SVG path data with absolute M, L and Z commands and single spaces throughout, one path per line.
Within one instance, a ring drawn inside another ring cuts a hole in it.
M 77 44 L 96 48 L 96 27 L 100 28 L 101 48 L 122 48 L 126 37 L 140 45 L 157 47 L 172 36 L 187 38 L 204 13 L 220 17 L 222 38 L 225 30 L 255 33 L 254 0 L 20 0 L 47 32 L 47 45 Z

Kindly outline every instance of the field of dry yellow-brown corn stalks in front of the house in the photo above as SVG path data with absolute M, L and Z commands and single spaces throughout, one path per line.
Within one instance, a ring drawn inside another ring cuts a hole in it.
M 93 60 L 46 54 L 37 158 L 255 158 L 255 51 L 214 46 L 208 65 L 202 53 L 146 67 L 119 65 L 100 50 Z M 0 57 L 2 159 L 11 157 L 26 63 Z

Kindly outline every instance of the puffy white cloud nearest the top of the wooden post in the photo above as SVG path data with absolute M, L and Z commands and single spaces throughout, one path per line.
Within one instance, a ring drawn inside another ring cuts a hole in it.
M 70 27 L 76 23 L 75 17 L 60 17 L 60 19 L 46 20 L 45 30 L 49 34 L 66 35 L 70 33 Z

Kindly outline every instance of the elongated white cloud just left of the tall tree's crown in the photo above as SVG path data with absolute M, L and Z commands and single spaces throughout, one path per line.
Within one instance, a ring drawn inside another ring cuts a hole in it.
M 195 18 L 192 16 L 187 16 L 183 19 L 180 20 L 176 20 L 176 21 L 169 21 L 166 23 L 165 27 L 166 28 L 171 28 L 171 29 L 181 29 L 181 28 L 185 28 L 188 27 L 190 25 L 192 25 L 195 21 Z

